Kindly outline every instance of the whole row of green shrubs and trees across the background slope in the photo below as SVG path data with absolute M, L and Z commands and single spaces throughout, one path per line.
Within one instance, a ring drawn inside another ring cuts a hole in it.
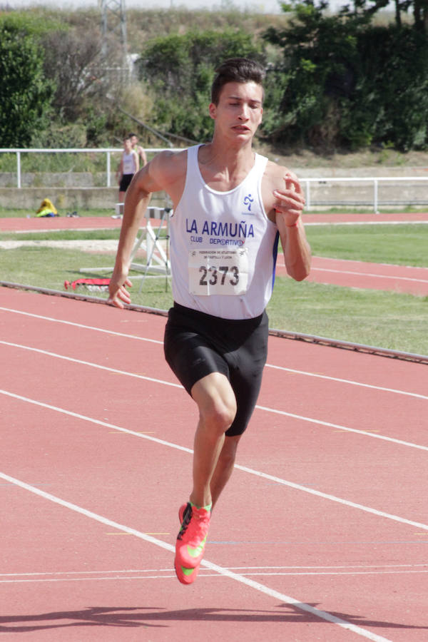
M 83 34 L 76 16 L 61 21 L 5 12 L 0 146 L 116 146 L 123 133 L 139 127 L 129 113 L 150 127 L 139 131 L 151 146 L 159 144 L 150 138 L 153 129 L 175 136 L 174 145 L 177 137 L 205 141 L 212 131 L 207 106 L 215 67 L 248 56 L 267 70 L 260 130 L 267 143 L 427 148 L 428 41 L 422 29 L 380 26 L 361 11 L 328 14 L 325 3 L 312 0 L 283 9 L 289 19 L 272 18 L 258 30 L 236 20 L 201 30 L 189 13 L 188 24 L 175 33 L 169 26 L 168 34 L 145 34 L 136 52 L 138 78 L 127 86 L 111 71 L 120 66 L 118 51 L 106 58 L 94 24 Z

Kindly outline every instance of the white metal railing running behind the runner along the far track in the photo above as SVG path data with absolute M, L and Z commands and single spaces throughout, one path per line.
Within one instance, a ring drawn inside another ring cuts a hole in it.
M 158 153 L 168 149 L 169 151 L 178 151 L 178 148 L 145 148 L 146 153 Z M 123 148 L 58 148 L 58 149 L 38 149 L 38 148 L 0 148 L 0 153 L 15 153 L 16 154 L 16 187 L 21 189 L 21 153 L 104 153 L 106 154 L 106 187 L 111 187 L 111 154 L 121 153 Z M 372 207 L 374 213 L 379 213 L 379 183 L 399 183 L 400 181 L 407 181 L 413 183 L 414 181 L 428 181 L 428 176 L 365 176 L 365 177 L 344 177 L 344 178 L 302 178 L 301 183 L 305 185 L 305 198 L 306 209 L 310 210 L 311 203 L 311 189 L 312 183 L 326 184 L 326 183 L 372 183 Z M 428 195 L 424 204 L 428 203 Z M 330 203 L 329 203 L 330 204 Z

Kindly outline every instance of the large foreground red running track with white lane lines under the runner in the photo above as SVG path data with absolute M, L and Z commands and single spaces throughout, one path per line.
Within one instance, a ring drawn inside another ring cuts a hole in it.
M 427 640 L 426 366 L 270 337 L 185 587 L 197 417 L 165 318 L 2 288 L 0 324 L 2 638 Z

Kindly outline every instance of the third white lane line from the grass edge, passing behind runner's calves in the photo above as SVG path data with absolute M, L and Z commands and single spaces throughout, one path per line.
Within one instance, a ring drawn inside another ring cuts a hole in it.
M 6 390 L 1 390 L 0 389 L 0 394 L 5 394 L 8 397 L 12 397 L 14 399 L 19 399 L 19 401 L 24 401 L 26 403 L 34 404 L 36 406 L 44 407 L 49 410 L 54 410 L 55 412 L 60 412 L 61 414 L 66 414 L 68 417 L 76 417 L 76 419 L 81 419 L 86 422 L 90 422 L 92 424 L 96 424 L 98 426 L 103 426 L 106 428 L 113 428 L 115 430 L 118 430 L 119 432 L 125 432 L 126 434 L 132 434 L 134 437 L 140 437 L 141 439 L 147 439 L 149 442 L 155 442 L 156 444 L 161 444 L 162 446 L 167 446 L 169 448 L 173 448 L 175 450 L 180 450 L 183 452 L 188 452 L 190 454 L 193 454 L 193 450 L 190 448 L 186 448 L 184 446 L 179 446 L 178 444 L 173 444 L 172 442 L 167 442 L 165 439 L 158 439 L 158 437 L 151 437 L 151 435 L 148 434 L 143 434 L 141 432 L 134 432 L 133 430 L 129 430 L 127 428 L 122 428 L 120 426 L 116 426 L 115 424 L 110 424 L 108 422 L 103 422 L 100 419 L 93 419 L 92 417 L 86 417 L 84 414 L 78 414 L 77 412 L 71 412 L 70 410 L 66 410 L 63 408 L 58 408 L 56 406 L 51 406 L 50 404 L 45 404 L 43 402 L 36 401 L 35 399 L 29 399 L 28 397 L 21 397 L 20 394 L 14 394 L 13 392 L 7 392 Z M 235 464 L 235 469 L 240 470 L 242 472 L 246 472 L 251 475 L 255 475 L 256 477 L 261 477 L 262 479 L 268 479 L 269 481 L 274 481 L 275 484 L 282 484 L 283 486 L 289 486 L 292 489 L 295 490 L 300 490 L 304 491 L 306 493 L 309 493 L 311 495 L 315 495 L 317 497 L 321 497 L 322 499 L 329 499 L 330 501 L 336 501 L 338 504 L 343 504 L 345 506 L 348 506 L 350 508 L 356 508 L 360 511 L 365 511 L 367 513 L 371 513 L 373 515 L 376 515 L 378 517 L 386 517 L 387 519 L 392 519 L 393 521 L 398 521 L 401 524 L 408 524 L 409 526 L 416 526 L 418 529 L 424 529 L 425 531 L 428 531 L 428 524 L 422 524 L 419 521 L 412 521 L 410 519 L 405 519 L 404 517 L 399 517 L 397 515 L 392 515 L 389 513 L 385 513 L 384 511 L 378 511 L 377 509 L 372 509 L 370 506 L 363 506 L 362 504 L 356 504 L 354 501 L 349 501 L 347 499 L 341 499 L 340 497 L 336 497 L 335 495 L 330 495 L 327 493 L 323 493 L 321 491 L 317 491 L 312 488 L 308 488 L 307 486 L 302 486 L 301 484 L 295 484 L 293 481 L 287 481 L 286 479 L 281 479 L 280 477 L 275 477 L 275 475 L 270 475 L 264 472 L 260 472 L 258 470 L 254 470 L 252 468 L 248 468 L 245 466 L 241 466 L 240 464 Z M 0 474 L 1 477 L 1 474 Z M 40 491 L 42 492 L 42 491 Z

